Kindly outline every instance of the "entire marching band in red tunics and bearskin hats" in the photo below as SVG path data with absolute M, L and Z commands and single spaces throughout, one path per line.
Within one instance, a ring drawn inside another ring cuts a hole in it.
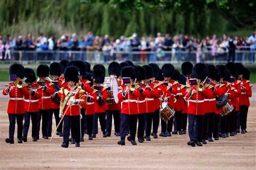
M 184 62 L 181 73 L 169 63 L 160 68 L 155 63 L 111 62 L 107 69 L 109 77 L 105 66 L 96 64 L 91 70 L 83 61 L 40 64 L 36 73 L 12 64 L 3 90 L 9 95 L 5 141 L 14 143 L 17 121 L 18 143 L 27 142 L 30 118 L 34 142 L 42 120 L 42 138 L 52 139 L 56 133 L 63 137 L 64 148 L 70 142 L 79 147 L 85 134 L 88 140 L 96 138 L 98 120 L 103 137 L 110 137 L 113 117 L 118 145 L 125 145 L 126 136 L 137 145 L 136 134 L 140 143 L 151 136 L 157 140 L 160 124 L 161 137 L 186 134 L 188 128 L 187 145 L 192 147 L 247 132 L 252 86 L 250 71 L 241 63 Z M 52 133 L 53 115 L 57 127 Z

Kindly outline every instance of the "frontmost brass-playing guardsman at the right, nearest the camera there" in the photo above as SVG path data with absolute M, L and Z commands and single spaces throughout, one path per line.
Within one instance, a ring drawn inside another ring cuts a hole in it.
M 191 77 L 196 79 L 197 85 L 192 85 L 185 99 L 188 101 L 188 132 L 189 146 L 195 147 L 202 145 L 203 116 L 204 107 L 204 87 L 199 87 L 198 83 L 203 83 L 207 77 L 207 66 L 203 63 L 197 63 L 192 71 Z

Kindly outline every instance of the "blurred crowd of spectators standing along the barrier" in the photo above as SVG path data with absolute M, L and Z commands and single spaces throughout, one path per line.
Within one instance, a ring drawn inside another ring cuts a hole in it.
M 223 34 L 221 38 L 216 35 L 199 39 L 188 35 L 175 35 L 157 33 L 156 37 L 141 37 L 133 33 L 131 37 L 119 38 L 93 35 L 89 31 L 85 36 L 62 35 L 46 37 L 43 33 L 35 38 L 30 33 L 27 36 L 11 37 L 0 35 L 0 60 L 10 60 L 12 51 L 51 52 L 51 51 L 86 51 L 93 52 L 95 60 L 101 54 L 104 61 L 126 60 L 129 53 L 133 52 L 132 60 L 145 62 L 170 61 L 175 58 L 181 61 L 243 60 L 244 53 L 252 51 L 248 60 L 254 63 L 256 49 L 256 31 L 249 37 L 233 37 Z M 239 53 L 236 53 L 239 52 Z M 53 57 L 53 55 L 51 55 Z M 54 58 L 51 58 L 54 60 Z

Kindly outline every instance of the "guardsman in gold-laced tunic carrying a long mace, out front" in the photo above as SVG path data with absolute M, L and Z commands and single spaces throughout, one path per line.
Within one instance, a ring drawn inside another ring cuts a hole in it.
M 61 89 L 60 117 L 63 117 L 63 143 L 61 147 L 68 148 L 69 133 L 73 135 L 76 147 L 80 147 L 81 139 L 81 104 L 85 102 L 85 91 L 79 86 L 79 70 L 76 66 L 68 66 L 64 73 L 68 86 Z

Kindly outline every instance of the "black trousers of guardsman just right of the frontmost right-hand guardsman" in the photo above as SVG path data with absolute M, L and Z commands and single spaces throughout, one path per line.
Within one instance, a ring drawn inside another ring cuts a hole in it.
M 212 138 L 214 113 L 206 113 L 204 116 L 203 139 Z

